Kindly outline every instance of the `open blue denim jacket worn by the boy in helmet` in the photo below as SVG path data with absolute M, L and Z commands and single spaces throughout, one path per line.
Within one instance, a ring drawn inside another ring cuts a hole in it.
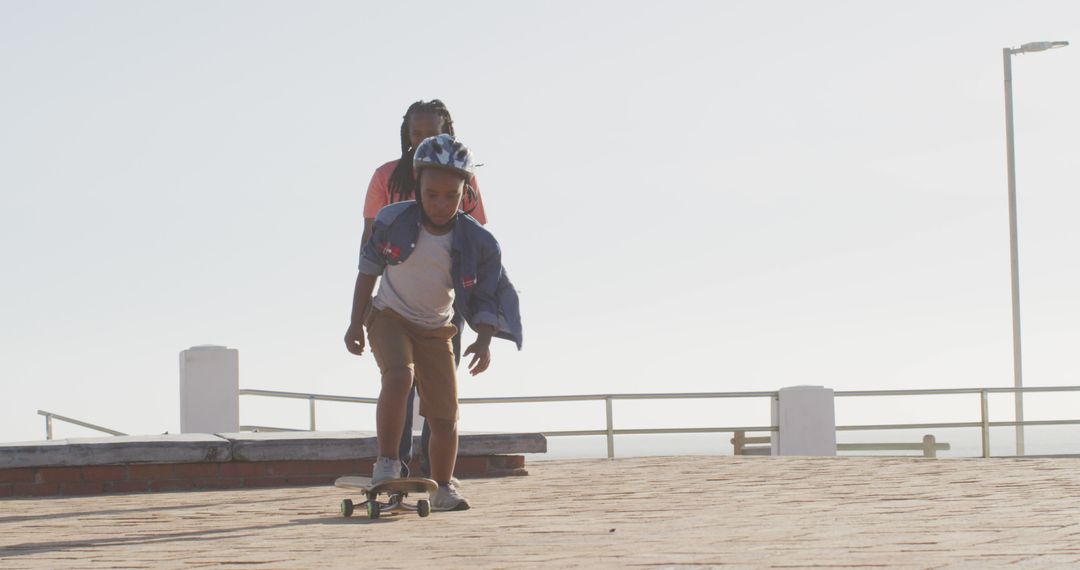
M 422 216 L 415 201 L 397 202 L 375 217 L 372 238 L 360 252 L 360 272 L 381 275 L 386 267 L 405 262 L 416 247 Z M 458 213 L 450 245 L 455 320 L 469 326 L 491 325 L 495 336 L 522 348 L 517 291 L 502 268 L 499 242 L 478 221 Z

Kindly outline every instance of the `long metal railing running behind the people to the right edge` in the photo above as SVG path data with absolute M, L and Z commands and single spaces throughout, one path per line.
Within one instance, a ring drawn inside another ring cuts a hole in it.
M 982 457 L 990 457 L 990 428 L 1012 428 L 1016 425 L 1080 425 L 1080 420 L 1027 420 L 1027 421 L 990 421 L 989 395 L 1009 393 L 1035 392 L 1080 392 L 1080 386 L 1031 386 L 1031 388 L 957 388 L 926 390 L 853 390 L 834 392 L 836 397 L 878 397 L 878 396 L 940 396 L 959 394 L 980 395 L 980 421 L 977 422 L 935 422 L 935 423 L 890 423 L 864 425 L 838 425 L 837 431 L 886 431 L 886 430 L 924 430 L 949 428 L 977 428 L 982 434 Z M 339 396 L 329 394 L 311 394 L 303 392 L 279 392 L 272 390 L 243 389 L 240 395 L 282 397 L 308 401 L 309 429 L 315 430 L 315 402 L 345 402 L 353 404 L 378 404 L 378 398 Z M 558 402 L 600 402 L 605 403 L 606 428 L 604 430 L 568 430 L 541 432 L 545 437 L 567 437 L 603 435 L 607 438 L 607 457 L 615 457 L 615 436 L 617 435 L 660 435 L 691 433 L 731 433 L 735 432 L 778 432 L 777 425 L 758 426 L 707 426 L 707 428 L 657 428 L 657 429 L 616 429 L 612 403 L 617 399 L 704 399 L 704 398 L 775 398 L 779 392 L 687 392 L 664 394 L 583 394 L 563 396 L 517 396 L 517 397 L 473 397 L 461 398 L 460 404 L 532 404 Z M 285 429 L 276 429 L 285 430 Z

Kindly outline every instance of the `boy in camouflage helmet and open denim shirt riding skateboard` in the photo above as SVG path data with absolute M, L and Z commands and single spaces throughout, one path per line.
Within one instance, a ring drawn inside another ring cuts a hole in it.
M 463 511 L 469 502 L 450 484 L 458 451 L 451 348 L 457 327 L 450 321 L 457 312 L 476 331 L 464 355 L 472 355 L 470 372 L 478 375 L 491 364 L 492 337 L 513 340 L 521 349 L 517 293 L 502 268 L 498 242 L 460 212 L 464 184 L 473 176 L 469 149 L 451 135 L 434 136 L 417 147 L 413 167 L 416 200 L 382 208 L 361 252 L 345 341 L 349 352 L 363 354 L 361 321 L 370 303 L 367 338 L 382 374 L 376 410 L 379 458 L 372 483 L 401 476 L 399 444 L 416 381 L 420 415 L 431 425 L 431 475 L 438 484 L 431 506 Z

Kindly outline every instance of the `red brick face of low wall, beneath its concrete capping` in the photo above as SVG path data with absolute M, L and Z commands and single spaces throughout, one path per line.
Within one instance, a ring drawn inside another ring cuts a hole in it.
M 5 469 L 0 470 L 0 498 L 332 485 L 342 475 L 370 475 L 373 462 L 233 461 Z M 413 469 L 419 472 L 418 465 Z M 458 458 L 454 474 L 468 478 L 528 472 L 523 456 L 475 456 Z

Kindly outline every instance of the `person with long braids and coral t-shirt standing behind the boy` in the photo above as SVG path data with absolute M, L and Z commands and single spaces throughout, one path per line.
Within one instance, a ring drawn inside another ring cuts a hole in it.
M 416 147 L 426 138 L 440 134 L 454 136 L 454 119 L 446 105 L 438 99 L 430 101 L 418 100 L 409 105 L 402 118 L 400 159 L 392 160 L 379 166 L 367 186 L 367 196 L 364 199 L 364 234 L 362 243 L 367 243 L 372 236 L 372 226 L 379 211 L 390 204 L 415 200 L 418 180 L 414 175 L 413 157 Z M 481 200 L 480 187 L 475 175 L 464 185 L 464 196 L 461 209 L 482 225 L 487 223 L 484 213 L 484 202 Z M 458 330 L 461 330 L 460 320 L 455 320 Z M 461 361 L 461 335 L 454 337 L 454 362 Z M 407 471 L 413 459 L 413 405 L 416 399 L 416 388 L 409 393 L 408 411 L 405 418 L 405 429 L 402 432 L 402 443 L 399 450 L 403 467 Z M 431 474 L 431 461 L 428 457 L 428 444 L 431 440 L 431 429 L 427 420 L 420 435 L 420 473 Z

